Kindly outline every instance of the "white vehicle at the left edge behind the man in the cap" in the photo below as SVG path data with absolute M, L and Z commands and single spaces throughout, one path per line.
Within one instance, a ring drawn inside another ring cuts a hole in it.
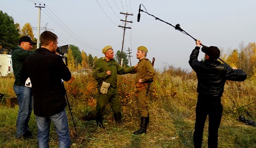
M 0 54 L 0 76 L 8 76 L 13 73 L 12 55 Z

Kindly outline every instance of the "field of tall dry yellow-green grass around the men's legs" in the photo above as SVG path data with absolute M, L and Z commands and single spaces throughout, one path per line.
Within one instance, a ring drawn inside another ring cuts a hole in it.
M 96 126 L 96 81 L 92 74 L 75 74 L 64 82 L 70 108 L 66 107 L 72 147 L 193 147 L 197 76 L 180 68 L 169 67 L 157 72 L 150 91 L 150 121 L 147 134 L 133 135 L 140 127 L 140 115 L 133 74 L 118 75 L 118 92 L 122 102 L 123 122 L 115 123 L 111 107 L 106 108 L 104 127 Z M 6 106 L 6 97 L 13 92 L 14 77 L 0 77 L 0 147 L 37 147 L 37 126 L 32 113 L 29 128 L 32 139 L 16 139 L 16 119 L 19 107 Z M 223 116 L 219 129 L 219 147 L 256 147 L 256 127 L 239 121 L 239 116 L 256 121 L 256 83 L 227 81 L 222 97 Z M 207 147 L 208 119 L 202 147 Z M 53 124 L 50 147 L 58 147 Z

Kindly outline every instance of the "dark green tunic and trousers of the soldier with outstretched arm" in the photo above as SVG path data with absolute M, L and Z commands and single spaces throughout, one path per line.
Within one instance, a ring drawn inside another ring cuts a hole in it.
M 93 78 L 98 82 L 98 87 L 100 88 L 102 82 L 110 83 L 107 94 L 101 94 L 98 92 L 96 96 L 96 110 L 97 114 L 104 115 L 105 108 L 109 103 L 112 111 L 114 113 L 121 112 L 121 102 L 119 100 L 119 95 L 116 90 L 117 87 L 117 74 L 127 74 L 134 71 L 134 66 L 129 68 L 124 68 L 120 66 L 116 60 L 111 59 L 106 60 L 105 57 L 97 59 L 93 67 Z M 106 72 L 111 71 L 111 75 L 108 75 Z M 98 88 L 98 89 L 99 89 Z

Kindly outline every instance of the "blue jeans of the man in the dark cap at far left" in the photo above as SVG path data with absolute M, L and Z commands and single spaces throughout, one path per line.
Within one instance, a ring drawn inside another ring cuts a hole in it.
M 33 110 L 33 95 L 32 89 L 28 87 L 22 87 L 13 85 L 13 90 L 17 95 L 19 112 L 16 121 L 16 137 L 21 136 L 28 130 L 28 121 L 30 119 Z

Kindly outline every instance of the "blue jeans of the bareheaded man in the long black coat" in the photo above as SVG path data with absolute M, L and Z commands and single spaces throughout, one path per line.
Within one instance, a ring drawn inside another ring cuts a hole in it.
M 37 139 L 39 147 L 49 147 L 50 123 L 54 123 L 58 135 L 59 147 L 70 147 L 69 124 L 65 108 L 50 117 L 36 116 Z

